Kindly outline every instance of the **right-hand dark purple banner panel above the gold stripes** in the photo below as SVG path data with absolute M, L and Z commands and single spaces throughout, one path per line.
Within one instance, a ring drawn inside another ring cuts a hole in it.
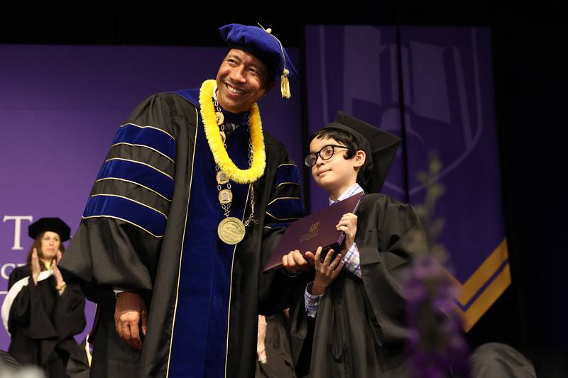
M 437 206 L 447 224 L 440 240 L 459 253 L 452 265 L 464 282 L 487 257 L 481 251 L 493 252 L 505 237 L 489 30 L 400 34 L 406 129 L 415 132 L 407 139 L 409 172 L 427 169 L 427 152 L 437 150 L 447 188 Z M 413 174 L 409 182 L 410 201 L 422 202 L 425 188 Z

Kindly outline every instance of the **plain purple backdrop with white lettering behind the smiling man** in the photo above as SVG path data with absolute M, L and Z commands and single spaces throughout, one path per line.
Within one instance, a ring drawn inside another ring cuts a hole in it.
M 214 79 L 225 48 L 0 45 L 0 301 L 26 259 L 31 221 L 59 216 L 72 233 L 111 140 L 139 102 Z M 295 62 L 298 52 L 289 50 Z M 263 126 L 302 161 L 300 83 L 260 102 Z M 18 223 L 21 228 L 16 233 Z M 94 306 L 87 304 L 87 328 Z M 0 330 L 0 349 L 9 337 Z

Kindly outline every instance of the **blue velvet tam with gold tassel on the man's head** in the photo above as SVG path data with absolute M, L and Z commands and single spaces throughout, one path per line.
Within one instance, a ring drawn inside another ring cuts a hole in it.
M 272 35 L 271 29 L 230 23 L 219 28 L 219 33 L 229 47 L 249 52 L 261 60 L 270 72 L 269 79 L 280 74 L 282 96 L 290 98 L 288 77 L 296 74 L 297 70 L 280 40 Z

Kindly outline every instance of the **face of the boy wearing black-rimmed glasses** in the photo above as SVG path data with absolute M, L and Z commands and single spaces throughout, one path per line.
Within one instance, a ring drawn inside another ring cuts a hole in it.
M 344 143 L 339 143 L 332 138 L 314 138 L 310 143 L 310 153 L 317 153 L 327 145 L 344 145 Z M 346 190 L 357 182 L 357 169 L 365 162 L 365 154 L 363 152 L 363 161 L 361 162 L 359 152 L 351 159 L 344 157 L 346 152 L 346 148 L 335 148 L 332 157 L 323 160 L 318 156 L 315 165 L 312 166 L 312 177 L 314 177 L 316 184 L 328 193 Z

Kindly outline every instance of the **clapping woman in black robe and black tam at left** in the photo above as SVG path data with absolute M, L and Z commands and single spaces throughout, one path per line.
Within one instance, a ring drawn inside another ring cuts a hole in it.
M 43 367 L 48 378 L 65 378 L 69 356 L 82 352 L 73 335 L 86 323 L 82 291 L 65 284 L 57 266 L 70 228 L 60 218 L 40 218 L 28 234 L 34 242 L 27 265 L 11 272 L 2 306 L 9 352 L 21 365 Z

